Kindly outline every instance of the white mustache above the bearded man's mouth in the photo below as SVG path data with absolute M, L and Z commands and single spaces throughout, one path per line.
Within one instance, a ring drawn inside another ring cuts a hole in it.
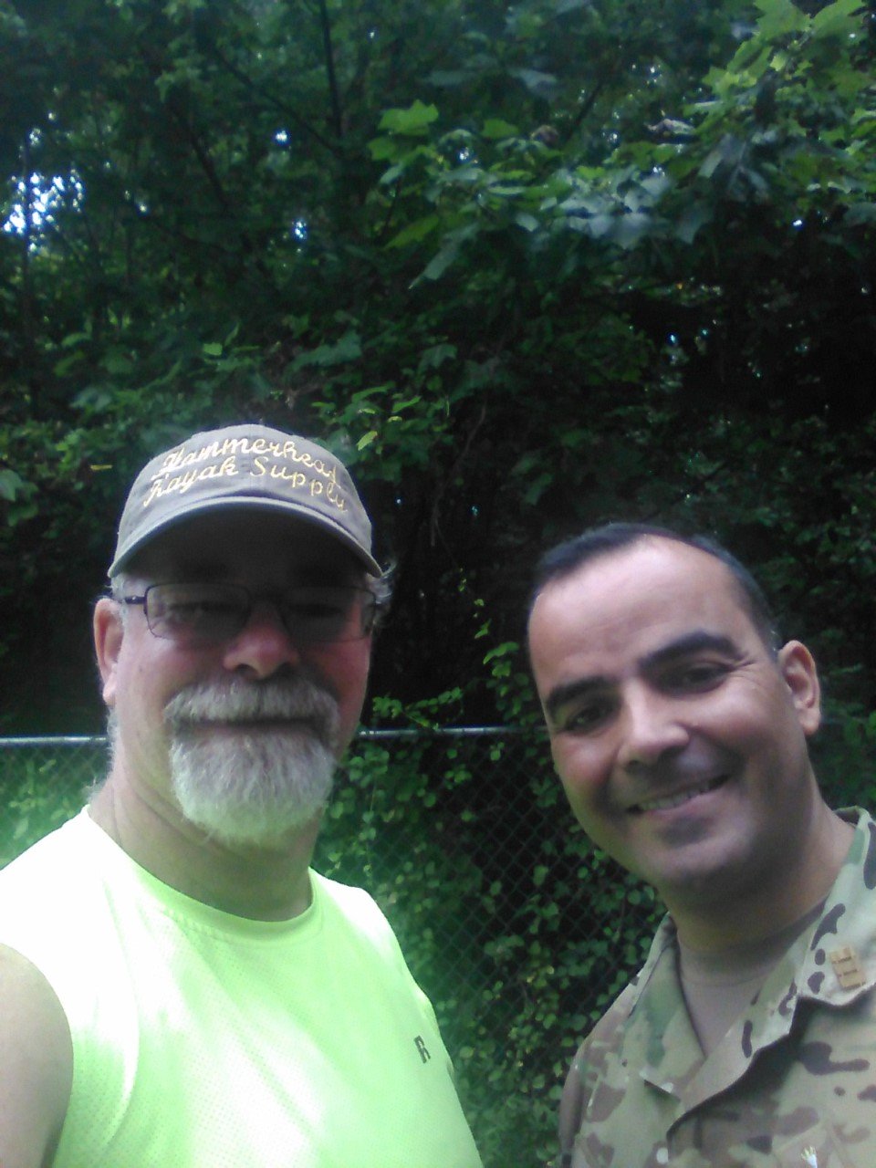
M 294 677 L 259 684 L 235 677 L 223 683 L 195 682 L 165 705 L 175 729 L 192 722 L 310 722 L 325 741 L 334 737 L 338 703 L 325 689 Z

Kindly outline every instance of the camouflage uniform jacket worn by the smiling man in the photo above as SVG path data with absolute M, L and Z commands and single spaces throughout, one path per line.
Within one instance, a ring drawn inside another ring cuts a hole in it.
M 876 1168 L 876 823 L 841 814 L 856 832 L 820 918 L 708 1057 L 663 920 L 575 1057 L 558 1164 Z

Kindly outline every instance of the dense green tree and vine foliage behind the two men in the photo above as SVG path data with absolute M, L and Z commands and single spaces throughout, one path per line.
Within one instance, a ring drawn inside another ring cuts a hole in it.
M 605 861 L 540 778 L 538 551 L 607 519 L 729 543 L 863 773 L 872 29 L 850 0 L 0 5 L 0 728 L 98 729 L 88 606 L 147 456 L 245 417 L 327 440 L 394 564 L 369 719 L 534 735 L 543 844 L 507 919 L 475 857 L 510 800 L 479 801 L 464 756 L 373 742 L 325 840 L 424 982 L 432 918 L 488 924 L 456 971 L 473 997 L 433 993 L 495 1163 L 515 1129 L 549 1146 L 577 987 L 620 983 L 651 910 L 593 894 Z

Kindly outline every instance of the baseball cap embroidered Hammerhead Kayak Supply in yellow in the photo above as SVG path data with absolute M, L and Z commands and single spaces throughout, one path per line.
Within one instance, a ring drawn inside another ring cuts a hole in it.
M 371 523 L 343 463 L 310 438 L 243 423 L 192 434 L 146 464 L 121 513 L 110 577 L 168 528 L 231 507 L 313 523 L 381 575 Z

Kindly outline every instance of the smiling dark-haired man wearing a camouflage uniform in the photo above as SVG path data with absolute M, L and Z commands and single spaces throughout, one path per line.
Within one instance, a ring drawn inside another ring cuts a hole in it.
M 529 647 L 572 809 L 669 910 L 557 1163 L 874 1168 L 876 825 L 819 792 L 811 654 L 723 549 L 635 524 L 543 558 Z

